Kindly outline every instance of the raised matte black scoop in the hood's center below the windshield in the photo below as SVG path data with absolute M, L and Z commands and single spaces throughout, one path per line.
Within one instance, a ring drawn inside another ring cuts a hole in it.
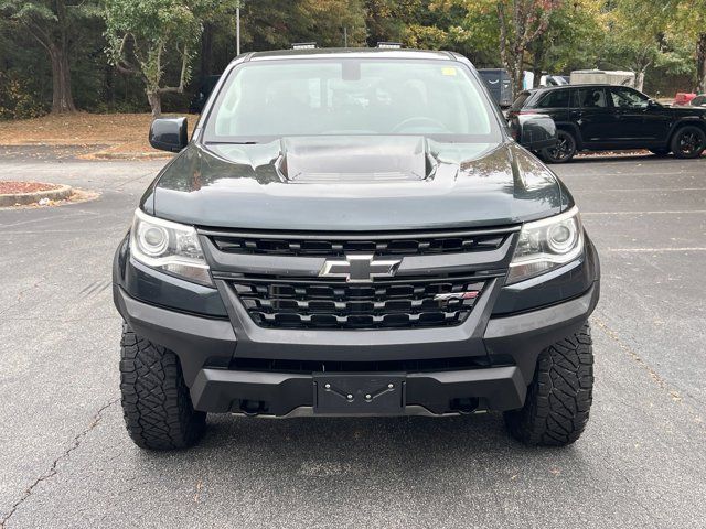
M 420 182 L 436 165 L 421 137 L 334 136 L 282 139 L 277 169 L 290 183 L 370 184 Z

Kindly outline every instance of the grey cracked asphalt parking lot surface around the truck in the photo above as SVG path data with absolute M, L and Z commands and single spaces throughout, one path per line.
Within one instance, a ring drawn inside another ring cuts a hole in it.
M 559 450 L 499 414 L 212 417 L 195 449 L 137 449 L 109 271 L 162 163 L 0 156 L 101 193 L 0 209 L 0 527 L 704 527 L 706 158 L 555 166 L 603 272 L 591 420 Z

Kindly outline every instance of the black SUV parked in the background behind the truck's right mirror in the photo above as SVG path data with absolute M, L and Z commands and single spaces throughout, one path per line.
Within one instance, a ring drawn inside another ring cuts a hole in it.
M 574 85 L 523 91 L 509 116 L 544 114 L 558 141 L 541 152 L 568 162 L 581 150 L 649 149 L 664 156 L 698 158 L 706 149 L 706 109 L 665 107 L 625 86 Z

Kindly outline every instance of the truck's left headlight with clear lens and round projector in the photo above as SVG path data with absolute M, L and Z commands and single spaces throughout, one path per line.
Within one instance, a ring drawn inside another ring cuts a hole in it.
M 213 287 L 193 226 L 151 217 L 137 209 L 130 231 L 130 251 L 136 260 L 148 267 Z

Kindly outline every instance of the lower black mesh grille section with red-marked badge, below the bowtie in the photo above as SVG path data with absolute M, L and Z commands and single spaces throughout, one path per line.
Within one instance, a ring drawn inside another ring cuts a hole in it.
M 255 323 L 286 328 L 394 328 L 462 323 L 480 298 L 477 278 L 344 282 L 236 280 Z

